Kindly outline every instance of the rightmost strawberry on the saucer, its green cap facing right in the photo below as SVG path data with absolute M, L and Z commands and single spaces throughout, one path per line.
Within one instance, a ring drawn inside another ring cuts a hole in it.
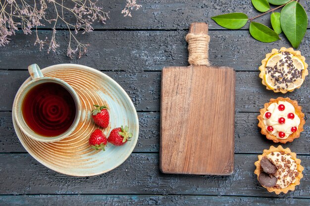
M 107 138 L 107 141 L 112 143 L 115 146 L 121 146 L 125 144 L 129 140 L 129 138 L 132 137 L 132 133 L 128 133 L 128 126 L 117 127 L 115 129 L 112 129 L 110 132 L 109 137 Z

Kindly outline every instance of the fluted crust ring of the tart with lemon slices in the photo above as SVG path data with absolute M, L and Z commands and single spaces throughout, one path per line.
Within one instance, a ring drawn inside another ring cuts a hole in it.
M 265 72 L 266 72 L 265 65 L 266 65 L 266 63 L 267 63 L 269 57 L 270 57 L 271 55 L 273 55 L 273 54 L 276 54 L 276 53 L 279 53 L 279 52 L 283 52 L 283 51 L 288 51 L 288 52 L 290 52 L 291 54 L 293 54 L 294 56 L 296 56 L 296 57 L 298 57 L 298 58 L 300 58 L 300 59 L 302 60 L 302 62 L 303 62 L 304 65 L 305 65 L 305 69 L 304 69 L 303 72 L 302 72 L 302 79 L 303 79 L 304 82 L 305 82 L 305 78 L 306 78 L 306 76 L 307 76 L 308 73 L 309 73 L 309 72 L 308 72 L 308 64 L 305 62 L 306 58 L 305 58 L 304 56 L 301 55 L 301 52 L 300 52 L 300 51 L 298 51 L 298 50 L 295 51 L 292 47 L 290 47 L 290 48 L 282 47 L 282 48 L 280 48 L 280 49 L 276 49 L 276 48 L 272 49 L 272 50 L 271 50 L 271 53 L 266 54 L 266 58 L 264 58 L 263 60 L 261 60 L 261 66 L 259 66 L 258 69 L 259 69 L 259 71 L 260 71 L 260 73 L 259 73 L 259 78 L 262 79 L 261 83 L 262 83 L 263 85 L 265 85 L 266 88 L 267 88 L 268 90 L 273 90 L 274 92 L 282 92 L 283 94 L 285 94 L 286 92 L 288 92 L 287 89 L 282 89 L 282 88 L 274 88 L 274 89 L 271 89 L 271 88 L 269 88 L 269 87 L 267 86 L 267 84 L 266 84 L 266 82 L 265 82 L 265 80 L 264 80 L 264 75 L 265 75 Z M 296 88 L 300 88 L 300 87 L 301 87 L 301 85 L 298 86 L 298 87 L 296 87 Z M 294 89 L 291 90 L 291 91 L 294 91 Z M 291 92 L 291 91 L 290 91 L 290 92 Z

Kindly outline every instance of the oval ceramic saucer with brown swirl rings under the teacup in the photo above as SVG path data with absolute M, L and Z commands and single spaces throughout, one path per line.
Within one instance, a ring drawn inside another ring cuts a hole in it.
M 52 170 L 72 176 L 102 174 L 125 162 L 138 141 L 139 121 L 124 89 L 102 72 L 82 65 L 59 64 L 42 69 L 42 73 L 47 77 L 59 78 L 73 87 L 81 100 L 82 115 L 79 125 L 69 137 L 52 143 L 29 138 L 18 128 L 13 117 L 16 134 L 27 152 Z M 23 85 L 30 80 L 28 78 Z M 109 108 L 110 124 L 103 129 L 103 133 L 108 136 L 111 129 L 128 125 L 133 133 L 131 141 L 120 147 L 108 143 L 105 151 L 92 149 L 88 139 L 99 128 L 91 118 L 94 104 L 104 104 Z

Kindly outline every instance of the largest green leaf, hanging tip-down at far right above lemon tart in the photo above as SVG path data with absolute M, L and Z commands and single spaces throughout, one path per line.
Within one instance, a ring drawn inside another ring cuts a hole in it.
M 294 48 L 303 40 L 308 25 L 308 16 L 304 7 L 296 1 L 284 6 L 280 16 L 281 28 Z

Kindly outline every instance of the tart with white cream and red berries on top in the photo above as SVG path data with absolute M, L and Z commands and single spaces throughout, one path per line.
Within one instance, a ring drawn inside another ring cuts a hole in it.
M 261 134 L 275 143 L 292 142 L 304 131 L 306 121 L 302 108 L 297 101 L 288 97 L 270 99 L 259 112 L 258 127 L 261 128 Z

